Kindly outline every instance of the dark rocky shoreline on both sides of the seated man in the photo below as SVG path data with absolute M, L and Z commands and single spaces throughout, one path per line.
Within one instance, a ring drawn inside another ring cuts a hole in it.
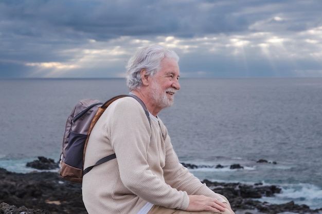
M 42 159 L 42 160 L 41 160 Z M 41 161 L 54 163 L 41 158 L 33 162 L 33 167 Z M 29 163 L 31 164 L 31 163 Z M 43 168 L 43 166 L 41 166 Z M 52 166 L 49 166 L 52 167 Z M 246 185 L 242 183 L 220 183 L 203 181 L 210 189 L 226 196 L 237 213 L 322 213 L 306 205 L 294 202 L 269 204 L 260 202 L 263 196 L 273 197 L 280 192 L 278 186 L 261 183 Z M 82 202 L 81 184 L 65 181 L 57 172 L 14 173 L 0 168 L 0 214 L 87 214 Z

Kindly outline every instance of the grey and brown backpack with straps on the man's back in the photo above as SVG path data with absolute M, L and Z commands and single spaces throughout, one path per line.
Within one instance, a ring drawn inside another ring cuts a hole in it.
M 84 174 L 89 172 L 94 166 L 116 158 L 115 154 L 110 154 L 97 161 L 95 165 L 83 169 L 85 150 L 94 125 L 113 101 L 125 96 L 132 96 L 132 98 L 141 104 L 151 125 L 147 107 L 134 94 L 114 96 L 105 103 L 93 99 L 79 101 L 69 114 L 65 126 L 62 152 L 58 161 L 61 165 L 60 176 L 63 179 L 82 183 Z

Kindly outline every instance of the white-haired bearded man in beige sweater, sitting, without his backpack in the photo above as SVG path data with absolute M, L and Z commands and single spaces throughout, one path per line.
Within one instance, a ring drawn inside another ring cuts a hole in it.
M 115 153 L 83 177 L 90 214 L 234 213 L 227 199 L 210 190 L 183 167 L 157 114 L 173 103 L 180 89 L 177 54 L 162 46 L 140 49 L 127 66 L 127 84 L 147 107 L 150 121 L 135 99 L 114 101 L 94 126 L 84 168 Z

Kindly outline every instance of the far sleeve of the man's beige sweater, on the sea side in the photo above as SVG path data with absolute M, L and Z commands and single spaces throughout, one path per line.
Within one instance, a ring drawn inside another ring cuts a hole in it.
M 166 164 L 164 167 L 164 177 L 166 182 L 173 188 L 186 191 L 189 195 L 203 195 L 216 198 L 221 202 L 225 202 L 222 197 L 209 189 L 206 184 L 201 183 L 201 181 L 191 172 L 189 172 L 186 167 L 182 166 L 175 151 L 173 150 L 173 146 L 168 135 L 168 130 L 162 121 L 160 121 L 160 127 L 166 136 Z

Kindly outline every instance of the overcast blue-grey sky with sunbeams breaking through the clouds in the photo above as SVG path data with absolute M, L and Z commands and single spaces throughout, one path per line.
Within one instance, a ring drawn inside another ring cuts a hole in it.
M 322 77 L 322 1 L 0 0 L 0 78 L 123 77 L 150 44 L 182 77 Z

